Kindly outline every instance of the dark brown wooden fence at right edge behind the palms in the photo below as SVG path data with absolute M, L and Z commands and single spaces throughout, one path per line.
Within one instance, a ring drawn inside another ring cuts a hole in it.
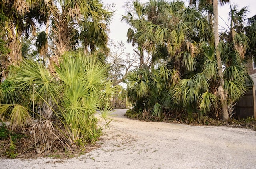
M 252 87 L 252 90 L 248 91 L 247 94 L 238 100 L 235 106 L 235 116 L 237 118 L 248 118 L 256 117 L 256 95 L 255 87 Z

